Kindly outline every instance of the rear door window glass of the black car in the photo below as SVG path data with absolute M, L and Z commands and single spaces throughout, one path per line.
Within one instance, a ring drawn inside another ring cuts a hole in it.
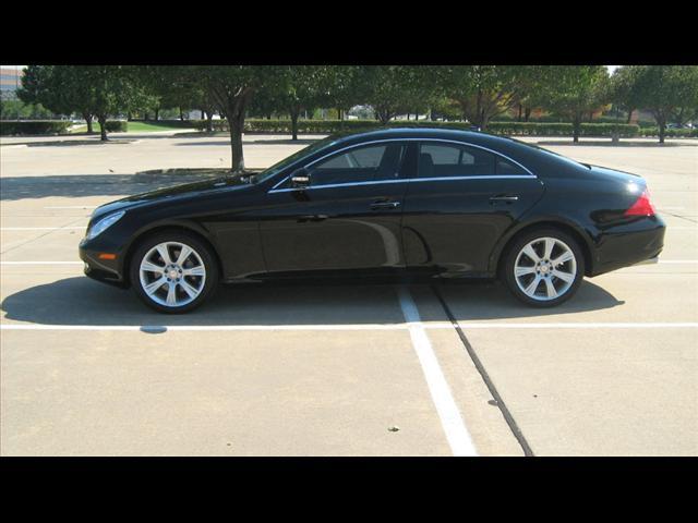
M 495 156 L 477 147 L 422 144 L 419 178 L 486 177 L 494 174 Z

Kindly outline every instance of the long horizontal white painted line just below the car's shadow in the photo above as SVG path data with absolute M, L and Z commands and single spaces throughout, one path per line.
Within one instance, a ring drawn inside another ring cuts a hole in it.
M 663 321 L 663 323 L 469 323 L 458 321 L 464 329 L 696 329 L 698 321 Z M 421 329 L 453 329 L 453 325 L 444 321 L 418 323 Z M 172 332 L 194 331 L 288 331 L 288 330 L 409 330 L 408 324 L 347 324 L 347 325 L 48 325 L 48 324 L 0 324 L 0 330 L 103 330 L 103 331 L 139 331 L 151 328 L 165 329 Z

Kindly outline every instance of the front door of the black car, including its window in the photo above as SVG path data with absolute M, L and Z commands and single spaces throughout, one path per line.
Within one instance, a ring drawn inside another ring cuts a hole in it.
M 269 272 L 375 272 L 405 266 L 400 238 L 406 144 L 344 149 L 305 166 L 306 187 L 269 191 L 260 222 Z

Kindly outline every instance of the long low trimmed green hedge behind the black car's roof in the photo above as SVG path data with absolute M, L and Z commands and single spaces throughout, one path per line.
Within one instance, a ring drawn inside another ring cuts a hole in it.
M 206 122 L 192 120 L 192 125 L 200 131 L 206 129 Z M 226 120 L 214 120 L 215 131 L 227 131 Z M 464 129 L 470 130 L 472 125 L 464 122 L 389 122 L 389 127 L 396 126 L 429 126 L 442 129 Z M 383 125 L 375 120 L 300 120 L 298 132 L 303 134 L 333 134 L 340 131 L 359 131 L 382 129 Z M 291 122 L 289 120 L 257 120 L 248 119 L 244 123 L 248 133 L 290 133 Z M 493 134 L 527 135 L 527 136 L 570 136 L 573 134 L 571 123 L 540 123 L 540 122 L 491 122 L 486 129 Z M 582 136 L 612 136 L 617 134 L 622 137 L 637 136 L 639 127 L 624 123 L 582 123 Z

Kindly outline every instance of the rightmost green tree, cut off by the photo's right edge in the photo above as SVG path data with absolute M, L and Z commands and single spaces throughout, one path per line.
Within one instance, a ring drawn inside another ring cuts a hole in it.
M 698 66 L 696 65 L 638 65 L 634 84 L 637 104 L 652 112 L 659 130 L 659 142 L 664 143 L 666 122 L 672 114 L 698 107 Z

